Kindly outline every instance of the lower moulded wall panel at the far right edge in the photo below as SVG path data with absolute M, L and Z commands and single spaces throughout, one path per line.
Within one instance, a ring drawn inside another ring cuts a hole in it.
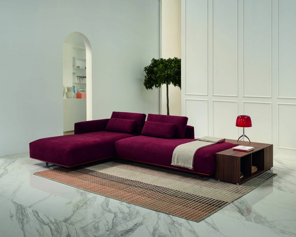
M 295 149 L 296 104 L 278 104 L 278 146 Z

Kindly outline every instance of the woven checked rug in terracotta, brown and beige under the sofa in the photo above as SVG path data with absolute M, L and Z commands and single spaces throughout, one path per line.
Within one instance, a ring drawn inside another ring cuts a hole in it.
M 211 177 L 122 160 L 34 173 L 92 193 L 200 221 L 277 174 L 264 172 L 236 185 Z

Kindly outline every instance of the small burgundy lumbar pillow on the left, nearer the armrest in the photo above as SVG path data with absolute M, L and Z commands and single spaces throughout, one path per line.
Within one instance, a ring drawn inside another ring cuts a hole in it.
M 110 132 L 122 132 L 132 133 L 136 126 L 136 120 L 134 119 L 109 119 L 109 122 L 105 128 Z

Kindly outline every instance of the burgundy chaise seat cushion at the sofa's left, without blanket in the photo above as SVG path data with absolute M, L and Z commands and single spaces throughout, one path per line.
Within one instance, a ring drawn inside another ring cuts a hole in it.
M 61 166 L 75 166 L 114 155 L 114 142 L 135 134 L 100 131 L 42 138 L 30 142 L 30 157 Z

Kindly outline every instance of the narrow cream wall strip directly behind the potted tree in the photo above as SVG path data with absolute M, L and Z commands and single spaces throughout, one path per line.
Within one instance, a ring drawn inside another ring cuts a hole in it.
M 161 0 L 161 57 L 181 58 L 181 0 Z M 181 116 L 181 90 L 169 85 L 170 115 Z M 162 86 L 162 114 L 167 114 L 166 86 Z

